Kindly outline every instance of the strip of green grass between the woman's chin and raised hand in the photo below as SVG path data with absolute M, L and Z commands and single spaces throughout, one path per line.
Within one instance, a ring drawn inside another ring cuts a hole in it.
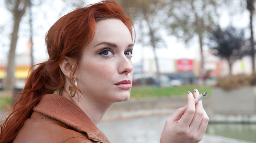
M 186 96 L 187 91 L 194 92 L 197 88 L 200 93 L 207 91 L 211 95 L 211 87 L 180 86 L 180 87 L 132 87 L 131 98 L 151 98 L 160 96 Z

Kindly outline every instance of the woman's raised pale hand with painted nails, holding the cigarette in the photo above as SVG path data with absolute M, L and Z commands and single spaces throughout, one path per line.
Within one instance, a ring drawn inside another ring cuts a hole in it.
M 194 96 L 188 91 L 187 105 L 166 120 L 160 143 L 198 143 L 203 138 L 209 117 L 203 109 L 202 100 L 195 105 L 198 96 L 197 89 L 194 89 Z

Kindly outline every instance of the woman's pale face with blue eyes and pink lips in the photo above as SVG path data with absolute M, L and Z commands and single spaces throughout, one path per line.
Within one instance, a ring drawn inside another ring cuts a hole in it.
M 95 36 L 85 47 L 75 77 L 89 101 L 112 104 L 130 98 L 133 78 L 133 40 L 117 19 L 96 23 Z

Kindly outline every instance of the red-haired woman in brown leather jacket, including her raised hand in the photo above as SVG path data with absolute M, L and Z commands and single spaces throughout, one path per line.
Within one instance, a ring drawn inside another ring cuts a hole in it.
M 49 60 L 33 70 L 1 125 L 0 142 L 103 142 L 96 127 L 106 110 L 130 97 L 133 24 L 114 1 L 79 8 L 60 18 L 46 36 Z M 187 106 L 165 123 L 161 143 L 196 143 L 208 117 L 202 102 Z M 183 117 L 182 117 L 183 115 Z M 182 117 L 182 119 L 181 119 Z

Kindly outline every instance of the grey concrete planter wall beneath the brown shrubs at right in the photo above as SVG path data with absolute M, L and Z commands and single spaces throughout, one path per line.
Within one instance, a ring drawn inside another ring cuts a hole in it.
M 256 114 L 256 87 L 212 89 L 215 114 Z

